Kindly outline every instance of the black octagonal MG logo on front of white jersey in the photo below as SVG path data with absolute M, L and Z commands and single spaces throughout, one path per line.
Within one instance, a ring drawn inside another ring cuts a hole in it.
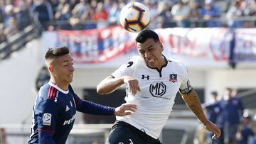
M 154 97 L 163 96 L 166 93 L 166 85 L 163 82 L 150 84 L 149 92 Z

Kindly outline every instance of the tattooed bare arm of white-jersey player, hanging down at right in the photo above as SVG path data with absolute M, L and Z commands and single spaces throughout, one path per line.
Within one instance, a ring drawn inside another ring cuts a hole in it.
M 220 129 L 206 118 L 198 94 L 191 89 L 191 92 L 181 93 L 181 95 L 188 108 L 195 113 L 196 117 L 198 117 L 198 119 L 203 123 L 205 128 L 214 133 L 213 139 L 218 138 L 220 136 Z

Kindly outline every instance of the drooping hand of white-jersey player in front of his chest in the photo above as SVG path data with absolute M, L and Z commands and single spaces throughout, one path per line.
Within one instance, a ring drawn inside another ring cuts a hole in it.
M 128 90 L 132 92 L 133 95 L 137 93 L 137 91 L 141 91 L 139 88 L 139 81 L 134 79 L 131 76 L 124 76 L 124 83 L 127 84 Z

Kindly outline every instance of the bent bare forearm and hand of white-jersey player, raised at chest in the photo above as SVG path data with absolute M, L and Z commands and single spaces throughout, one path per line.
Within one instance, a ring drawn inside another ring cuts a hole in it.
M 109 76 L 100 82 L 97 85 L 97 93 L 98 94 L 110 94 L 114 92 L 115 89 L 122 86 L 122 84 L 127 84 L 129 91 L 132 94 L 136 94 L 137 91 L 140 91 L 139 81 L 134 79 L 129 75 L 124 75 L 123 77 L 114 78 L 113 76 Z

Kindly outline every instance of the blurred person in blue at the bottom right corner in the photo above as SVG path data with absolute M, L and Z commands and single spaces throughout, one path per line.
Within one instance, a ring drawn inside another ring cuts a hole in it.
M 251 116 L 245 116 L 236 133 L 236 140 L 238 144 L 248 144 L 249 138 L 254 135 L 255 133 L 253 133 L 251 126 Z

